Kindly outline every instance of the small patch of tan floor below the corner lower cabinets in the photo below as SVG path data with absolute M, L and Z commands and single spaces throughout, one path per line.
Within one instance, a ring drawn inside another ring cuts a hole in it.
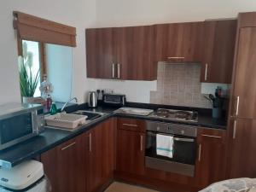
M 146 189 L 130 184 L 114 182 L 112 183 L 105 192 L 157 192 L 156 190 Z

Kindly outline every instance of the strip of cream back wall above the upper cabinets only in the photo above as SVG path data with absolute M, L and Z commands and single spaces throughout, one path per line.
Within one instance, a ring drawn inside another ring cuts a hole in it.
M 97 26 L 133 26 L 236 17 L 254 0 L 96 0 Z

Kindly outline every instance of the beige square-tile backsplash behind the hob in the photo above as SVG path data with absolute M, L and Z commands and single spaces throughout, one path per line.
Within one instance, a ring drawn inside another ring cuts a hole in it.
M 150 92 L 155 104 L 212 108 L 201 94 L 200 64 L 158 64 L 157 90 Z

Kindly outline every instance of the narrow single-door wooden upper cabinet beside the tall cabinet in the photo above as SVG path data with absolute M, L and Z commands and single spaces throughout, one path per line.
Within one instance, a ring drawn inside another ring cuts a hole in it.
M 237 20 L 204 22 L 201 82 L 230 84 L 236 45 Z

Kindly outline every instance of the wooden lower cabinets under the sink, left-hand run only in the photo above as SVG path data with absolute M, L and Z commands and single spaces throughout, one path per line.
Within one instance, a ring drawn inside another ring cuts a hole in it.
M 97 192 L 113 180 L 116 120 L 41 154 L 52 192 Z

